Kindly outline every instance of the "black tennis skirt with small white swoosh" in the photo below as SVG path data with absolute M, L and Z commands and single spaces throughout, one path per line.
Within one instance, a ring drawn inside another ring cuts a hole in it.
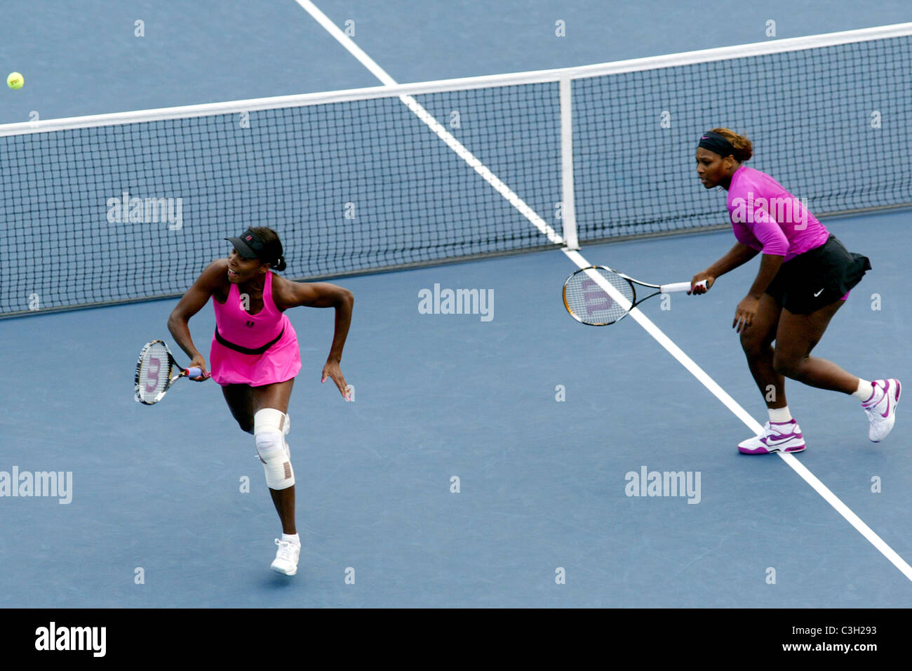
M 783 263 L 766 293 L 793 314 L 810 314 L 845 297 L 865 272 L 867 257 L 845 249 L 832 233 L 827 241 Z

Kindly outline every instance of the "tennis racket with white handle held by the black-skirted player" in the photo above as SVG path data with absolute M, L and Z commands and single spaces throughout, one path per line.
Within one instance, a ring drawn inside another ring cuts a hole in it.
M 606 285 L 616 288 L 621 296 L 626 299 L 626 304 L 619 303 L 607 291 Z M 637 299 L 637 286 L 655 288 L 648 296 Z M 706 280 L 702 279 L 697 286 L 706 287 Z M 638 279 L 628 278 L 624 273 L 612 270 L 605 266 L 590 266 L 580 268 L 564 282 L 564 307 L 576 321 L 581 321 L 589 326 L 607 326 L 627 317 L 634 309 L 646 299 L 651 299 L 658 294 L 671 294 L 680 291 L 689 291 L 689 282 L 675 282 L 674 284 L 647 284 Z

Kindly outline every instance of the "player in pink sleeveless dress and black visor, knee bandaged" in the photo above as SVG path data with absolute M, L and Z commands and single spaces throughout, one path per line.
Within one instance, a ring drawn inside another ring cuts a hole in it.
M 302 284 L 275 274 L 285 270 L 282 243 L 271 228 L 249 228 L 238 237 L 227 258 L 212 261 L 184 294 L 168 319 L 174 340 L 199 366 L 202 382 L 222 385 L 228 408 L 241 429 L 254 435 L 256 454 L 263 462 L 266 484 L 282 521 L 282 540 L 273 571 L 295 575 L 301 540 L 295 529 L 295 471 L 285 436 L 291 428 L 288 400 L 295 375 L 301 370 L 297 336 L 285 310 L 297 306 L 335 308 L 336 332 L 323 367 L 322 382 L 331 378 L 348 401 L 345 377 L 339 368 L 354 297 L 346 288 L 326 282 Z M 210 363 L 193 345 L 188 322 L 212 298 L 215 332 Z

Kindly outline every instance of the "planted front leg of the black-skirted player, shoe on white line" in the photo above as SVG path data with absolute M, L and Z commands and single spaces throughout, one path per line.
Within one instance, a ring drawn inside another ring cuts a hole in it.
M 775 351 L 772 341 L 779 329 L 782 306 L 777 299 L 764 293 L 751 325 L 741 330 L 741 349 L 747 356 L 754 382 L 763 394 L 770 421 L 763 425 L 763 433 L 738 444 L 745 455 L 767 455 L 771 452 L 801 452 L 804 437 L 798 423 L 789 413 L 785 400 L 785 378 L 773 364 Z

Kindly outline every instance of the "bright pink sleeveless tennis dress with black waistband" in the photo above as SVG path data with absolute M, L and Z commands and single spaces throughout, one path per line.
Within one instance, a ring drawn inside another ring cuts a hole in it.
M 266 273 L 263 309 L 244 310 L 240 291 L 232 284 L 224 304 L 212 299 L 215 333 L 209 352 L 212 380 L 219 384 L 283 383 L 301 370 L 297 334 L 273 300 L 273 272 Z

